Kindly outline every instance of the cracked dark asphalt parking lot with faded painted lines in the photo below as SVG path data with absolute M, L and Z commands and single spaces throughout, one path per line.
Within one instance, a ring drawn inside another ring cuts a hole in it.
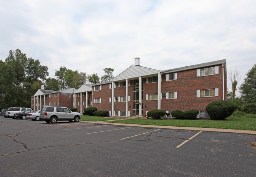
M 254 135 L 0 117 L 0 176 L 254 176 Z

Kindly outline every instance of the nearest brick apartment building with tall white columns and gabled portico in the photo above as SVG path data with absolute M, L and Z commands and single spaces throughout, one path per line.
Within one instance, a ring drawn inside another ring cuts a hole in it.
M 111 116 L 196 109 L 204 118 L 209 103 L 226 100 L 226 77 L 226 59 L 161 71 L 140 66 L 135 58 L 135 65 L 111 81 L 93 85 L 92 105 Z

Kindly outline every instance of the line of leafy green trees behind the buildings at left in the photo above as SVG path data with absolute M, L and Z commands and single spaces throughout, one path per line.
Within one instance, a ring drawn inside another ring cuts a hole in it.
M 31 96 L 41 89 L 41 85 L 44 85 L 46 90 L 55 91 L 78 89 L 85 84 L 86 79 L 93 85 L 114 78 L 113 68 L 105 68 L 105 74 L 100 79 L 97 73 L 72 71 L 65 66 L 55 70 L 56 78 L 51 78 L 48 77 L 47 66 L 42 66 L 39 60 L 28 58 L 19 49 L 10 50 L 5 61 L 0 60 L 0 70 L 1 110 L 9 107 L 31 107 Z

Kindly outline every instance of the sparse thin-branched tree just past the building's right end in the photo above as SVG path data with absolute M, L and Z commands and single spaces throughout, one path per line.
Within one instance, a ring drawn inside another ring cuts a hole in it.
M 232 100 L 236 97 L 236 90 L 237 90 L 237 83 L 240 80 L 240 71 L 235 69 L 235 70 L 229 70 L 228 71 L 228 81 L 229 84 L 228 86 L 232 91 L 228 92 L 228 100 Z

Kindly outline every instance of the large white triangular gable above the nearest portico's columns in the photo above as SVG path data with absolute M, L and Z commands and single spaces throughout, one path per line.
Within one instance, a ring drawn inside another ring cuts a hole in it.
M 160 70 L 146 68 L 146 67 L 139 66 L 139 65 L 132 65 L 129 68 L 127 68 L 126 70 L 124 70 L 117 77 L 112 79 L 112 81 L 121 81 L 121 80 L 125 80 L 125 79 L 132 79 L 132 78 L 137 78 L 139 76 L 143 77 L 143 76 L 148 76 L 148 75 L 152 75 L 152 74 L 158 74 L 160 72 L 161 72 Z

